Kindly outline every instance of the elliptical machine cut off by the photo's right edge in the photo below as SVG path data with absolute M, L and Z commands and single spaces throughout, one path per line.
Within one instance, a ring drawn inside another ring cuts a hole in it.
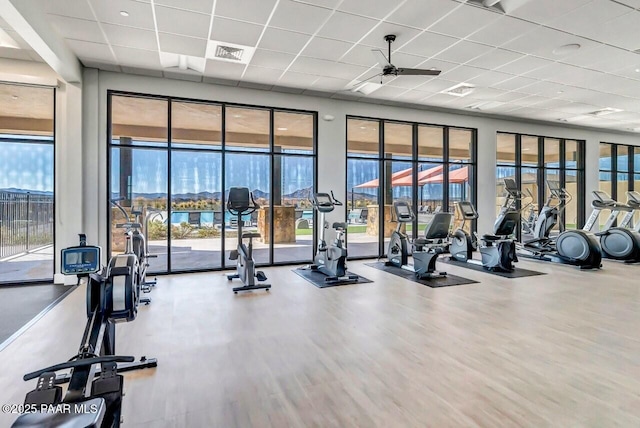
M 593 201 L 591 202 L 591 215 L 584 225 L 583 230 L 592 231 L 600 212 L 603 209 L 610 210 L 609 217 L 604 225 L 604 230 L 596 232 L 595 235 L 600 237 L 600 247 L 602 256 L 608 259 L 620 260 L 625 263 L 640 262 L 640 233 L 625 227 L 613 227 L 613 223 L 617 220 L 618 214 L 623 211 L 627 216 L 633 217 L 633 208 L 616 202 L 606 192 L 595 190 L 591 192 Z M 623 223 L 625 220 L 623 220 Z

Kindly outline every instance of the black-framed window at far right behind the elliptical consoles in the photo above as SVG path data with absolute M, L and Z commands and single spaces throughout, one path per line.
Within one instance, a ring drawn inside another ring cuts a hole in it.
M 624 144 L 600 143 L 600 185 L 619 202 L 626 202 L 628 191 L 640 192 L 640 147 Z M 634 224 L 640 221 L 640 214 L 634 215 Z M 600 216 L 600 225 L 606 216 Z

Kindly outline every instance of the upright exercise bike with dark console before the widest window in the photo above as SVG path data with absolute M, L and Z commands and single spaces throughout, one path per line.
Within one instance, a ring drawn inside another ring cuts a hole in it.
M 256 284 L 267 280 L 267 276 L 261 270 L 256 271 L 255 261 L 253 260 L 253 238 L 259 238 L 257 232 L 242 232 L 242 216 L 251 214 L 258 210 L 260 205 L 253 199 L 253 193 L 247 187 L 232 187 L 229 189 L 229 198 L 227 200 L 227 210 L 238 218 L 238 246 L 231 251 L 229 260 L 236 260 L 236 273 L 227 275 L 227 279 L 231 281 L 239 278 L 244 284 L 242 287 L 235 287 L 233 292 L 249 290 L 267 290 L 271 288 L 271 284 Z M 245 245 L 244 238 L 249 238 L 249 246 Z

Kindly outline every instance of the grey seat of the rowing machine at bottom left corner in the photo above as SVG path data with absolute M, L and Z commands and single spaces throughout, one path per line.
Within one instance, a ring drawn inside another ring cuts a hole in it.
M 104 398 L 91 398 L 86 401 L 69 404 L 64 412 L 34 412 L 22 414 L 13 423 L 12 428 L 27 427 L 87 427 L 100 428 L 107 409 Z M 54 407 L 54 406 L 52 406 Z

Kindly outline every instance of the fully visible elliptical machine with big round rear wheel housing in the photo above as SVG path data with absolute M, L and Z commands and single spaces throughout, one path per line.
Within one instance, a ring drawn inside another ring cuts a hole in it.
M 535 260 L 564 263 L 580 269 L 602 267 L 602 253 L 596 236 L 586 230 L 564 230 L 557 237 L 551 237 L 551 229 L 558 223 L 558 216 L 571 201 L 566 189 L 557 181 L 547 181 L 549 197 L 538 214 L 534 238 L 519 245 L 518 254 Z M 524 252 L 522 252 L 524 251 Z

